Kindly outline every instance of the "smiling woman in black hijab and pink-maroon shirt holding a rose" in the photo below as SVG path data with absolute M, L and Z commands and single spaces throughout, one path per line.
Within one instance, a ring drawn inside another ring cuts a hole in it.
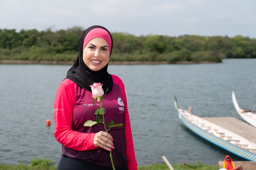
M 57 90 L 54 101 L 54 136 L 62 144 L 58 170 L 111 170 L 112 150 L 116 169 L 137 169 L 131 125 L 124 84 L 108 73 L 108 61 L 113 47 L 110 32 L 102 26 L 87 28 L 80 38 L 79 55 Z M 84 127 L 87 120 L 96 121 L 97 105 L 93 105 L 91 87 L 103 84 L 107 91 L 105 122 L 113 120 L 122 127 L 105 132 L 102 124 Z

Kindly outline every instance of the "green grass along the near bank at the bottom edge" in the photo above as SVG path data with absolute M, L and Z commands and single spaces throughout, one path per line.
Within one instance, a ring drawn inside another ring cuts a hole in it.
M 21 161 L 17 165 L 0 163 L 0 170 L 56 170 L 57 166 L 47 158 L 34 157 L 30 159 L 30 164 L 25 165 Z M 174 170 L 219 170 L 217 165 L 206 165 L 202 162 L 172 164 Z M 154 165 L 138 166 L 138 170 L 169 170 L 165 163 L 156 163 Z

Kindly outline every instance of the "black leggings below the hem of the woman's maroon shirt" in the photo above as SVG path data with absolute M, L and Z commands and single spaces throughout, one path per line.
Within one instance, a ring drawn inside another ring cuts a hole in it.
M 128 170 L 128 167 L 116 168 L 117 170 Z M 93 165 L 81 159 L 62 156 L 57 170 L 113 170 L 112 167 Z

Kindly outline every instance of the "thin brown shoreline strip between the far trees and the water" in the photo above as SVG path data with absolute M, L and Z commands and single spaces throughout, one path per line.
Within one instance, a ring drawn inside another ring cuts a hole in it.
M 60 65 L 73 65 L 74 61 L 29 61 L 29 60 L 0 60 L 1 64 L 60 64 Z M 143 65 L 143 64 L 199 64 L 199 63 L 217 63 L 210 61 L 177 61 L 177 62 L 157 62 L 157 61 L 110 61 L 110 65 Z

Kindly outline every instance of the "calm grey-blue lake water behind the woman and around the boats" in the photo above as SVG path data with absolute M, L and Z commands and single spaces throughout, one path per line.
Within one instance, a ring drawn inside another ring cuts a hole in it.
M 53 136 L 53 101 L 71 65 L 0 65 L 0 162 L 29 163 L 38 156 L 55 164 L 61 144 Z M 139 165 L 163 162 L 217 165 L 228 152 L 194 135 L 178 119 L 192 106 L 198 116 L 233 116 L 231 93 L 241 108 L 256 104 L 256 59 L 225 59 L 192 65 L 110 65 L 126 88 Z M 46 119 L 52 125 L 46 127 Z M 231 154 L 229 154 L 231 155 Z M 231 155 L 233 160 L 240 160 Z

